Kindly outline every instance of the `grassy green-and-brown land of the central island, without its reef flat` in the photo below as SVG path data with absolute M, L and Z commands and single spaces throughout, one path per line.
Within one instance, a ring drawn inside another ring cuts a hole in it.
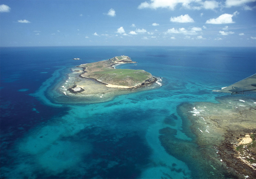
M 84 78 L 93 78 L 109 87 L 134 88 L 155 81 L 155 78 L 145 70 L 115 69 L 113 66 L 122 63 L 136 63 L 128 56 L 117 56 L 95 63 L 82 64 Z

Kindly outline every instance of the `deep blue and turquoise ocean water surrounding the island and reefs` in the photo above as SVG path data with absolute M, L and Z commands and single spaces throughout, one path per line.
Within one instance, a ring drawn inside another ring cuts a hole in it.
M 121 55 L 138 63 L 117 68 L 148 71 L 161 86 L 92 104 L 47 95 L 72 67 Z M 0 178 L 198 178 L 163 148 L 163 121 L 193 142 L 177 106 L 230 95 L 212 90 L 255 74 L 255 59 L 255 47 L 1 47 Z

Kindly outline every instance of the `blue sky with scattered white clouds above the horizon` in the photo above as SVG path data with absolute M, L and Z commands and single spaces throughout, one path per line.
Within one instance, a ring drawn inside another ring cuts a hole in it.
M 256 0 L 1 0 L 0 46 L 256 46 Z

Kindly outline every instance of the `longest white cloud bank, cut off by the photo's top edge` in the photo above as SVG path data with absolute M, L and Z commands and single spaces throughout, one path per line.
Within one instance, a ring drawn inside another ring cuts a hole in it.
M 169 8 L 174 10 L 177 5 L 182 5 L 183 8 L 186 9 L 215 9 L 219 6 L 219 3 L 215 0 L 151 0 L 151 2 L 142 2 L 138 9 L 150 8 L 150 9 L 157 9 L 157 8 Z

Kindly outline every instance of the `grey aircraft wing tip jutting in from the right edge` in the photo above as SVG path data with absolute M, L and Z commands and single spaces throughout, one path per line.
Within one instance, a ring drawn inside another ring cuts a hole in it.
M 249 76 L 241 81 L 234 83 L 228 87 L 224 87 L 221 90 L 213 90 L 221 93 L 231 94 L 252 94 L 256 93 L 256 74 Z

